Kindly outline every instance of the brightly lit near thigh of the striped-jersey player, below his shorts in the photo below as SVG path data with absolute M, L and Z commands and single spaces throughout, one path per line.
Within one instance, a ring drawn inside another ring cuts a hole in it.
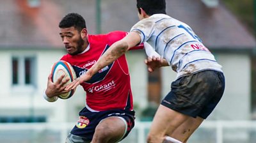
M 148 136 L 156 137 L 155 142 L 162 142 L 165 135 L 172 134 L 189 116 L 160 105 L 152 121 Z

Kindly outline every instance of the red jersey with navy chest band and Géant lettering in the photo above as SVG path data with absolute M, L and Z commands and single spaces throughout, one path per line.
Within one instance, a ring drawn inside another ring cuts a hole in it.
M 70 63 L 77 77 L 80 77 L 96 63 L 110 45 L 124 38 L 126 34 L 126 32 L 114 31 L 108 34 L 88 35 L 89 46 L 83 53 L 75 56 L 67 54 L 61 60 Z M 134 49 L 142 48 L 143 45 L 134 47 Z M 81 86 L 86 91 L 86 107 L 92 112 L 133 108 L 130 75 L 125 55 L 102 68 Z

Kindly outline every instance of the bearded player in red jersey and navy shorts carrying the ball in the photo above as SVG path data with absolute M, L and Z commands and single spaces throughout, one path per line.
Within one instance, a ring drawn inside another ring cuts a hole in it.
M 68 13 L 60 21 L 60 36 L 68 52 L 60 60 L 70 63 L 80 77 L 99 59 L 115 41 L 127 32 L 88 34 L 85 20 L 77 13 Z M 133 49 L 143 49 L 138 45 Z M 48 77 L 45 99 L 54 102 L 58 94 L 65 93 L 67 80 L 63 77 L 53 83 Z M 62 80 L 62 81 L 61 81 Z M 130 75 L 125 56 L 102 68 L 92 79 L 81 83 L 86 91 L 86 106 L 79 112 L 76 126 L 66 142 L 118 142 L 124 139 L 134 126 L 134 110 Z

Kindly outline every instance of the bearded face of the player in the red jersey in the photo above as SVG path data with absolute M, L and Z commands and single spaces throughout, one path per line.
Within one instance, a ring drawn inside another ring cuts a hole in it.
M 76 55 L 84 51 L 84 40 L 75 27 L 67 27 L 60 29 L 60 36 L 65 48 L 70 55 Z

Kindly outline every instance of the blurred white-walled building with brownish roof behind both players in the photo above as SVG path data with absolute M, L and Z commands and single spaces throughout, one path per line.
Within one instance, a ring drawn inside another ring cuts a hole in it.
M 0 0 L 0 122 L 76 121 L 84 107 L 85 93 L 78 88 L 68 100 L 46 102 L 42 93 L 51 66 L 66 53 L 58 22 L 70 12 L 83 15 L 90 34 L 129 31 L 138 21 L 136 1 L 92 0 Z M 252 118 L 252 65 L 256 41 L 221 2 L 166 0 L 167 13 L 186 22 L 202 38 L 223 66 L 226 89 L 210 119 Z M 143 50 L 127 53 L 134 105 L 138 115 L 149 103 L 159 103 L 170 90 L 176 74 L 161 68 L 148 75 Z M 138 116 L 140 119 L 141 117 Z

